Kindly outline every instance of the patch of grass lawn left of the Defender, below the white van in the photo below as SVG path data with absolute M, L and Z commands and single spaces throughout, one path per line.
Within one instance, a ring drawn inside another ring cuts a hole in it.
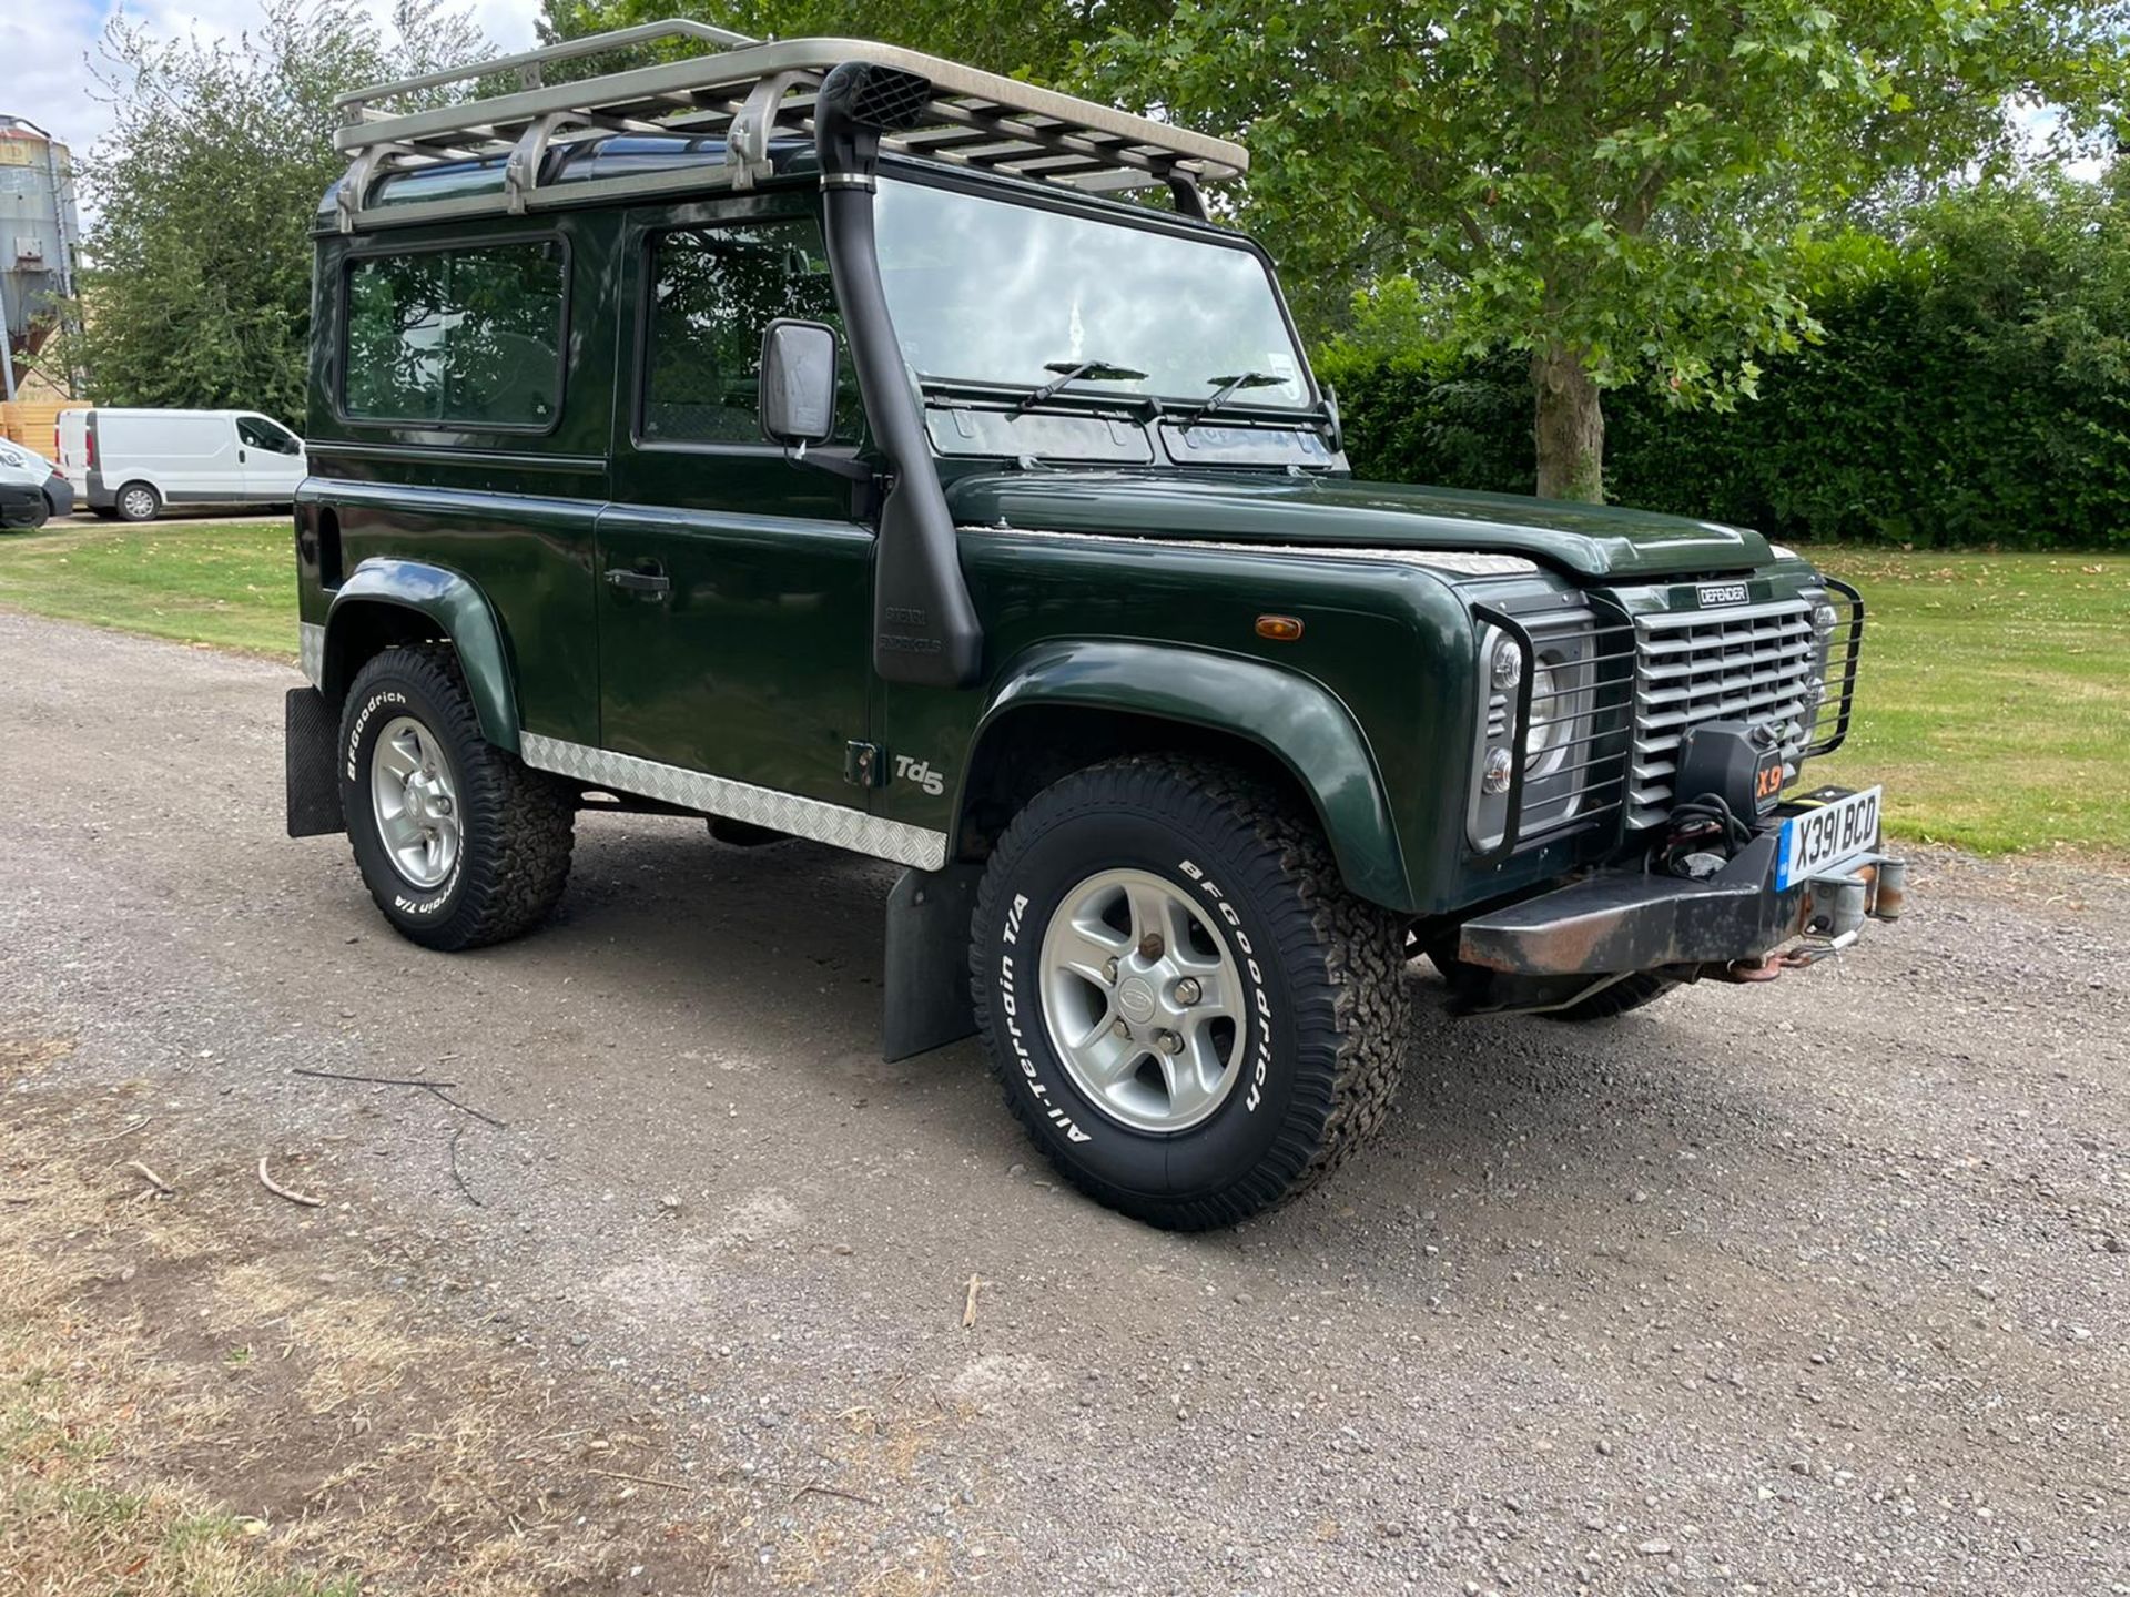
M 285 520 L 4 532 L 0 607 L 294 660 L 296 539 Z

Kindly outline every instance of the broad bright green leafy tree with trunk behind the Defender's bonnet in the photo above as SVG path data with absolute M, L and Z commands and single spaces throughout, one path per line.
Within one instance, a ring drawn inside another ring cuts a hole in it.
M 1182 0 L 1095 81 L 1242 136 L 1289 281 L 1372 285 L 1529 358 L 1538 492 L 1602 498 L 1602 392 L 1755 392 L 1813 332 L 1793 241 L 1894 179 L 2011 162 L 2017 109 L 2104 126 L 2096 0 Z M 1301 294 L 1323 330 L 1336 311 Z M 1395 319 L 1395 317 L 1393 317 Z

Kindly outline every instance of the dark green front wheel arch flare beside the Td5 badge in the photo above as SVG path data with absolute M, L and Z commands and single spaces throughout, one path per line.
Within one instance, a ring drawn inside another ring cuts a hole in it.
M 1227 758 L 1284 788 L 1355 894 L 1412 909 L 1389 794 L 1346 705 L 1295 671 L 1165 643 L 1048 643 L 1012 660 L 971 739 L 954 854 L 980 854 L 1035 788 L 1140 750 Z

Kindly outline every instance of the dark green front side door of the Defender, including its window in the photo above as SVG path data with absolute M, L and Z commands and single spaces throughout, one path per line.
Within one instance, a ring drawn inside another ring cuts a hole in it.
M 763 328 L 839 322 L 820 224 L 784 207 L 630 224 L 628 402 L 599 517 L 603 745 L 769 790 L 726 813 L 771 826 L 780 796 L 865 807 L 843 754 L 867 735 L 873 558 L 850 483 L 760 432 Z M 837 437 L 858 417 L 841 396 Z

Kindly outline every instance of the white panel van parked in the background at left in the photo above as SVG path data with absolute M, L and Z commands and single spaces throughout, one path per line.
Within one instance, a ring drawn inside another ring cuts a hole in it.
M 164 505 L 290 505 L 302 439 L 256 411 L 60 411 L 60 473 L 98 515 L 149 522 Z

